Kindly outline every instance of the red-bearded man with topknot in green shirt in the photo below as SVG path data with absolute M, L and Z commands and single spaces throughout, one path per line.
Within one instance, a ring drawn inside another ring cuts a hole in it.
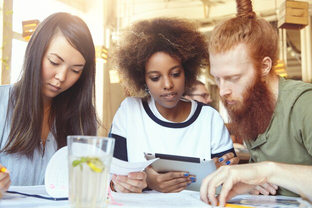
M 275 73 L 279 54 L 276 30 L 257 18 L 251 0 L 236 3 L 236 17 L 218 24 L 209 40 L 210 73 L 228 113 L 229 131 L 245 141 L 251 163 L 311 166 L 312 85 L 286 80 Z M 225 169 L 236 167 L 218 171 Z M 203 182 L 201 196 L 213 189 L 208 186 L 214 180 L 210 177 Z M 235 180 L 232 185 L 240 182 Z M 299 192 L 293 192 L 269 183 L 251 191 L 298 197 Z

